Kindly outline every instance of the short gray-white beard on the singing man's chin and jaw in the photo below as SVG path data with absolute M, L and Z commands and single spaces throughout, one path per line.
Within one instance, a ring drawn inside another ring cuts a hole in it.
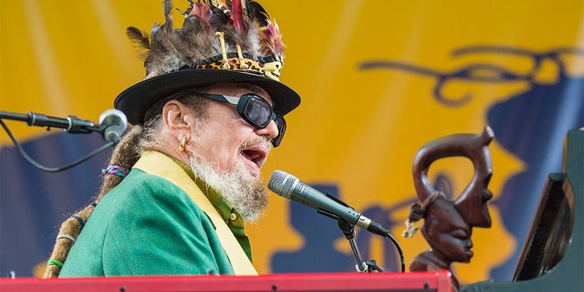
M 231 203 L 245 221 L 255 223 L 267 207 L 267 192 L 261 178 L 252 177 L 243 162 L 231 171 L 217 172 L 213 162 L 191 155 L 194 175 Z M 204 191 L 204 190 L 203 190 Z

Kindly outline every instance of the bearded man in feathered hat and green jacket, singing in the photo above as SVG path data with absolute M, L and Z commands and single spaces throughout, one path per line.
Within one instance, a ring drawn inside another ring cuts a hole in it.
M 194 3 L 175 30 L 165 0 L 151 36 L 128 29 L 148 50 L 147 78 L 114 102 L 134 127 L 46 277 L 256 274 L 244 223 L 266 207 L 260 169 L 300 99 L 278 80 L 276 24 L 245 2 Z

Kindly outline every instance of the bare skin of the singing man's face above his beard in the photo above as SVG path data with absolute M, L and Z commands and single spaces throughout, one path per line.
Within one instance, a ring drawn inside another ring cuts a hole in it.
M 210 88 L 207 93 L 241 97 L 254 93 L 272 104 L 266 90 L 245 84 L 222 84 Z M 208 114 L 203 127 L 193 133 L 197 140 L 195 152 L 214 164 L 217 172 L 245 169 L 252 177 L 259 177 L 260 169 L 271 151 L 269 141 L 277 136 L 276 123 L 271 121 L 265 129 L 255 129 L 243 120 L 235 105 L 209 100 Z

